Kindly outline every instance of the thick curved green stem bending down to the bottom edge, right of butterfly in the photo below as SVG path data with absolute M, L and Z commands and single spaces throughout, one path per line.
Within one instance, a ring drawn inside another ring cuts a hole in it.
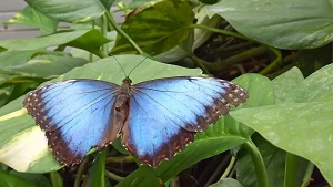
M 250 154 L 250 156 L 252 158 L 255 174 L 256 174 L 258 186 L 259 187 L 269 187 L 270 185 L 269 185 L 265 165 L 263 163 L 263 159 L 262 159 L 262 156 L 261 156 L 259 149 L 256 148 L 256 146 L 254 145 L 254 143 L 252 141 L 244 143 L 243 147 L 248 150 L 248 153 Z

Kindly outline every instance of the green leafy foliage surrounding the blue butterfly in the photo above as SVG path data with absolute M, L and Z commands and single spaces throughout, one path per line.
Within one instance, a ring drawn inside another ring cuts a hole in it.
M 294 187 L 307 185 L 313 164 L 333 185 L 331 0 L 26 1 L 6 23 L 36 27 L 41 37 L 0 41 L 1 187 L 172 186 L 186 176 L 195 181 L 184 186 Z M 109 11 L 115 3 L 130 12 L 121 27 Z M 203 71 L 250 97 L 157 168 L 138 167 L 118 139 L 74 172 L 61 169 L 22 108 L 24 94 L 69 79 L 121 84 L 122 69 L 140 62 L 133 84 Z

